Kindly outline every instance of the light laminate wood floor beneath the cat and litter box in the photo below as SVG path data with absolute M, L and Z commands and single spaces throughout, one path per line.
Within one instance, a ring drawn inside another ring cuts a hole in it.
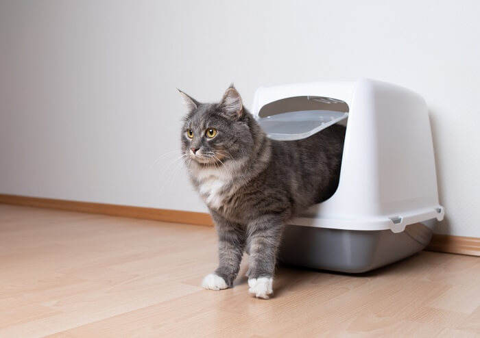
M 206 291 L 214 229 L 0 205 L 0 337 L 480 337 L 480 259 L 359 276 L 280 266 L 271 300 Z

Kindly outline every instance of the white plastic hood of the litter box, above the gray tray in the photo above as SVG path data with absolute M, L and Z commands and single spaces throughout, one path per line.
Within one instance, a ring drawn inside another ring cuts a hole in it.
M 306 96 L 323 105 L 301 101 Z M 372 79 L 300 83 L 259 88 L 252 114 L 261 120 L 322 109 L 348 113 L 339 185 L 291 224 L 399 233 L 409 224 L 443 219 L 429 115 L 420 95 Z

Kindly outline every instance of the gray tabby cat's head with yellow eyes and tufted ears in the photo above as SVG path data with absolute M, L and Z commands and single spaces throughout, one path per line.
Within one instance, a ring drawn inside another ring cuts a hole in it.
M 180 90 L 179 90 L 180 91 Z M 219 103 L 200 103 L 180 91 L 189 113 L 182 127 L 182 153 L 202 166 L 221 166 L 248 157 L 254 146 L 252 116 L 230 86 Z

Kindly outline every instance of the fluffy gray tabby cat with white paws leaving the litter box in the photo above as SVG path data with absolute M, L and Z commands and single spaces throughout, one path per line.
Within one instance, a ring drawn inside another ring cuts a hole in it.
M 179 91 L 188 107 L 182 155 L 219 242 L 219 266 L 202 287 L 232 287 L 245 251 L 249 292 L 268 299 L 285 224 L 337 188 L 345 127 L 333 125 L 303 140 L 271 140 L 233 86 L 219 103 L 200 103 Z

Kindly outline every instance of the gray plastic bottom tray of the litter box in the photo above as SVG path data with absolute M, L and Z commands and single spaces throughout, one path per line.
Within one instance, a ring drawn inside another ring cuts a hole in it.
M 361 273 L 423 250 L 437 220 L 410 224 L 401 233 L 355 231 L 287 225 L 280 260 L 292 265 Z

